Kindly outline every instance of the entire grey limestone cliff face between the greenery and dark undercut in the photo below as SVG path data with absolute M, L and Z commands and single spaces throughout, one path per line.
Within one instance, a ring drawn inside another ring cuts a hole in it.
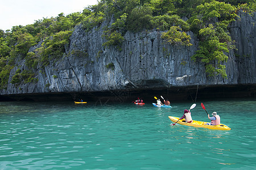
M 228 54 L 227 79 L 208 78 L 204 66 L 191 61 L 198 46 L 192 32 L 188 32 L 193 44 L 189 47 L 165 44 L 157 30 L 126 32 L 120 51 L 114 46 L 102 46 L 104 23 L 90 32 L 77 26 L 66 48 L 68 55 L 40 71 L 38 83 L 15 87 L 10 83 L 18 69 L 15 67 L 11 70 L 7 90 L 2 90 L 1 95 L 255 84 L 256 15 L 241 13 L 240 18 L 230 26 L 237 50 Z

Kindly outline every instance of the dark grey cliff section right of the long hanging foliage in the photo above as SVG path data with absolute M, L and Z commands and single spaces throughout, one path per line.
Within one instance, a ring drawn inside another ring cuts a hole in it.
M 237 83 L 256 82 L 256 15 L 240 13 L 236 22 L 230 27 L 232 39 L 236 41 L 237 51 L 230 57 L 236 61 Z

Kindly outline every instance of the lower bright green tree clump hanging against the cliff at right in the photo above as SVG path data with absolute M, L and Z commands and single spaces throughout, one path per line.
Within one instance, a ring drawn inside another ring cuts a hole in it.
M 226 67 L 222 63 L 228 61 L 228 56 L 225 53 L 229 52 L 232 45 L 230 36 L 224 32 L 220 25 L 214 28 L 212 24 L 207 28 L 200 29 L 200 46 L 192 59 L 196 61 L 199 59 L 205 65 L 205 70 L 208 76 L 220 74 L 226 78 Z

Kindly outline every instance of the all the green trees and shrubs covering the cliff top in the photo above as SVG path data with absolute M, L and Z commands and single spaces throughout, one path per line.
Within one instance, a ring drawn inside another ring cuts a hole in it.
M 228 25 L 237 18 L 238 11 L 253 14 L 255 0 L 101 0 L 82 12 L 55 18 L 36 20 L 34 24 L 0 29 L 0 89 L 7 87 L 10 71 L 25 59 L 26 70 L 17 70 L 11 83 L 35 82 L 35 73 L 44 66 L 66 56 L 75 26 L 81 24 L 85 32 L 106 20 L 113 21 L 104 29 L 102 37 L 106 48 L 121 49 L 127 31 L 148 29 L 163 31 L 162 38 L 170 45 L 192 45 L 186 32 L 192 31 L 200 40 L 199 49 L 192 56 L 205 65 L 208 76 L 226 77 L 225 65 L 230 49 L 234 48 Z M 31 47 L 35 46 L 32 49 Z M 77 56 L 86 55 L 85 52 Z

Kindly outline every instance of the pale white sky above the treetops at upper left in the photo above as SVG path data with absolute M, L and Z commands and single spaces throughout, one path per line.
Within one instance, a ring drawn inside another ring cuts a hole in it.
M 34 24 L 35 20 L 82 12 L 97 0 L 0 0 L 0 29 L 6 31 L 15 25 Z

